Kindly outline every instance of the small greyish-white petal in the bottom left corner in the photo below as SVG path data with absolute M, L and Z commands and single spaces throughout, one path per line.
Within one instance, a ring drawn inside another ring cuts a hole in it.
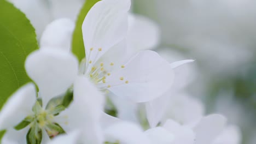
M 13 128 L 8 129 L 3 138 L 1 143 L 2 144 L 26 144 L 26 135 L 30 127 L 26 127 L 21 130 L 15 130 Z

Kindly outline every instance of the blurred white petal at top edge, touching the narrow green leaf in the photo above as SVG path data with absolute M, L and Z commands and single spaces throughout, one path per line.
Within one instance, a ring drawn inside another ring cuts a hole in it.
M 84 0 L 51 0 L 51 12 L 53 13 L 54 19 L 62 17 L 68 17 L 75 21 L 78 17 L 80 9 L 83 7 Z

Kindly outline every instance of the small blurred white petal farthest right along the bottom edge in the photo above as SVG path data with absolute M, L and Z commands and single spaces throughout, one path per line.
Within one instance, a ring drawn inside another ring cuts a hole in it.
M 214 140 L 213 144 L 239 144 L 242 140 L 241 136 L 241 131 L 237 126 L 229 125 L 223 130 L 222 134 Z

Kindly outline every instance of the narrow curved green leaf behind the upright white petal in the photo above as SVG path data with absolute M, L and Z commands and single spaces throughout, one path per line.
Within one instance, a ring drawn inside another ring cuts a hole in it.
M 80 14 L 77 19 L 77 23 L 75 25 L 75 30 L 73 34 L 73 41 L 72 41 L 72 52 L 75 56 L 77 56 L 78 60 L 81 61 L 85 57 L 85 50 L 84 50 L 84 41 L 83 41 L 83 34 L 82 34 L 82 25 L 87 15 L 88 11 L 100 0 L 87 0 L 80 11 Z

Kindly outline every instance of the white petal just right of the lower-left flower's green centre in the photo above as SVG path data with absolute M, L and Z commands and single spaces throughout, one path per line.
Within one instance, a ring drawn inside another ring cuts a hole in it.
M 73 99 L 68 109 L 57 116 L 62 118 L 62 122 L 57 122 L 67 133 L 74 129 L 81 130 L 84 143 L 102 143 L 100 118 L 104 96 L 86 77 L 78 76 L 74 83 Z

